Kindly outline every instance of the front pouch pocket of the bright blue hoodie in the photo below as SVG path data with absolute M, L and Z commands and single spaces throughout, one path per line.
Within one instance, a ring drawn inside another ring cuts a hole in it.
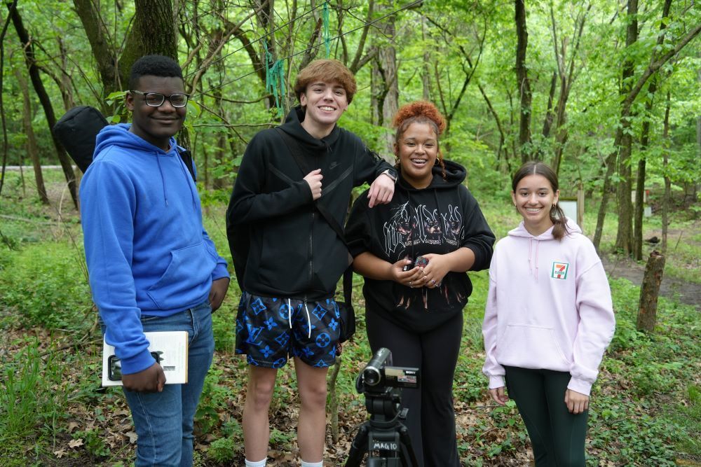
M 193 294 L 200 294 L 198 288 L 207 284 L 217 265 L 205 242 L 173 250 L 170 256 L 163 276 L 147 291 L 158 309 L 177 309 L 199 298 Z

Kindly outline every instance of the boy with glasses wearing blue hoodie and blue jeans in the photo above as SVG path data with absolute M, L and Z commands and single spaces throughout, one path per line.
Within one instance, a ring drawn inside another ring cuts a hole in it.
M 212 311 L 229 287 L 226 261 L 202 225 L 197 188 L 173 136 L 188 95 L 182 70 L 147 55 L 131 69 L 131 125 L 105 127 L 81 182 L 90 288 L 121 359 L 138 435 L 136 466 L 191 466 L 193 417 L 212 363 Z M 189 333 L 187 384 L 165 385 L 144 332 Z

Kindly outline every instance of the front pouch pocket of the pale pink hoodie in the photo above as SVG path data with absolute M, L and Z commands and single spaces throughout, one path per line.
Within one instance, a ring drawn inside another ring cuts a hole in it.
M 497 342 L 497 361 L 519 368 L 556 371 L 569 371 L 571 365 L 552 328 L 526 324 L 506 326 L 503 338 Z

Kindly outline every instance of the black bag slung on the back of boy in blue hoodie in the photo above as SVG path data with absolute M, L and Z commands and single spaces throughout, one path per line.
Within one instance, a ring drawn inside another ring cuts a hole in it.
M 83 174 L 93 162 L 95 139 L 102 128 L 109 125 L 107 119 L 95 107 L 77 106 L 70 109 L 53 125 L 53 133 L 66 149 Z M 177 151 L 185 162 L 193 181 L 197 181 L 190 151 Z

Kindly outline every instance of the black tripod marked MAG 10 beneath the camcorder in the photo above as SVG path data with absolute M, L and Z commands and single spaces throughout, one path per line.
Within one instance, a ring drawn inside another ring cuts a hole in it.
M 360 466 L 366 452 L 367 467 L 418 467 L 409 429 L 402 424 L 409 410 L 399 411 L 400 392 L 396 388 L 387 388 L 382 393 L 366 392 L 365 406 L 371 414 L 370 419 L 360 426 L 353 438 L 346 467 Z M 407 463 L 405 453 L 408 453 L 411 464 Z

